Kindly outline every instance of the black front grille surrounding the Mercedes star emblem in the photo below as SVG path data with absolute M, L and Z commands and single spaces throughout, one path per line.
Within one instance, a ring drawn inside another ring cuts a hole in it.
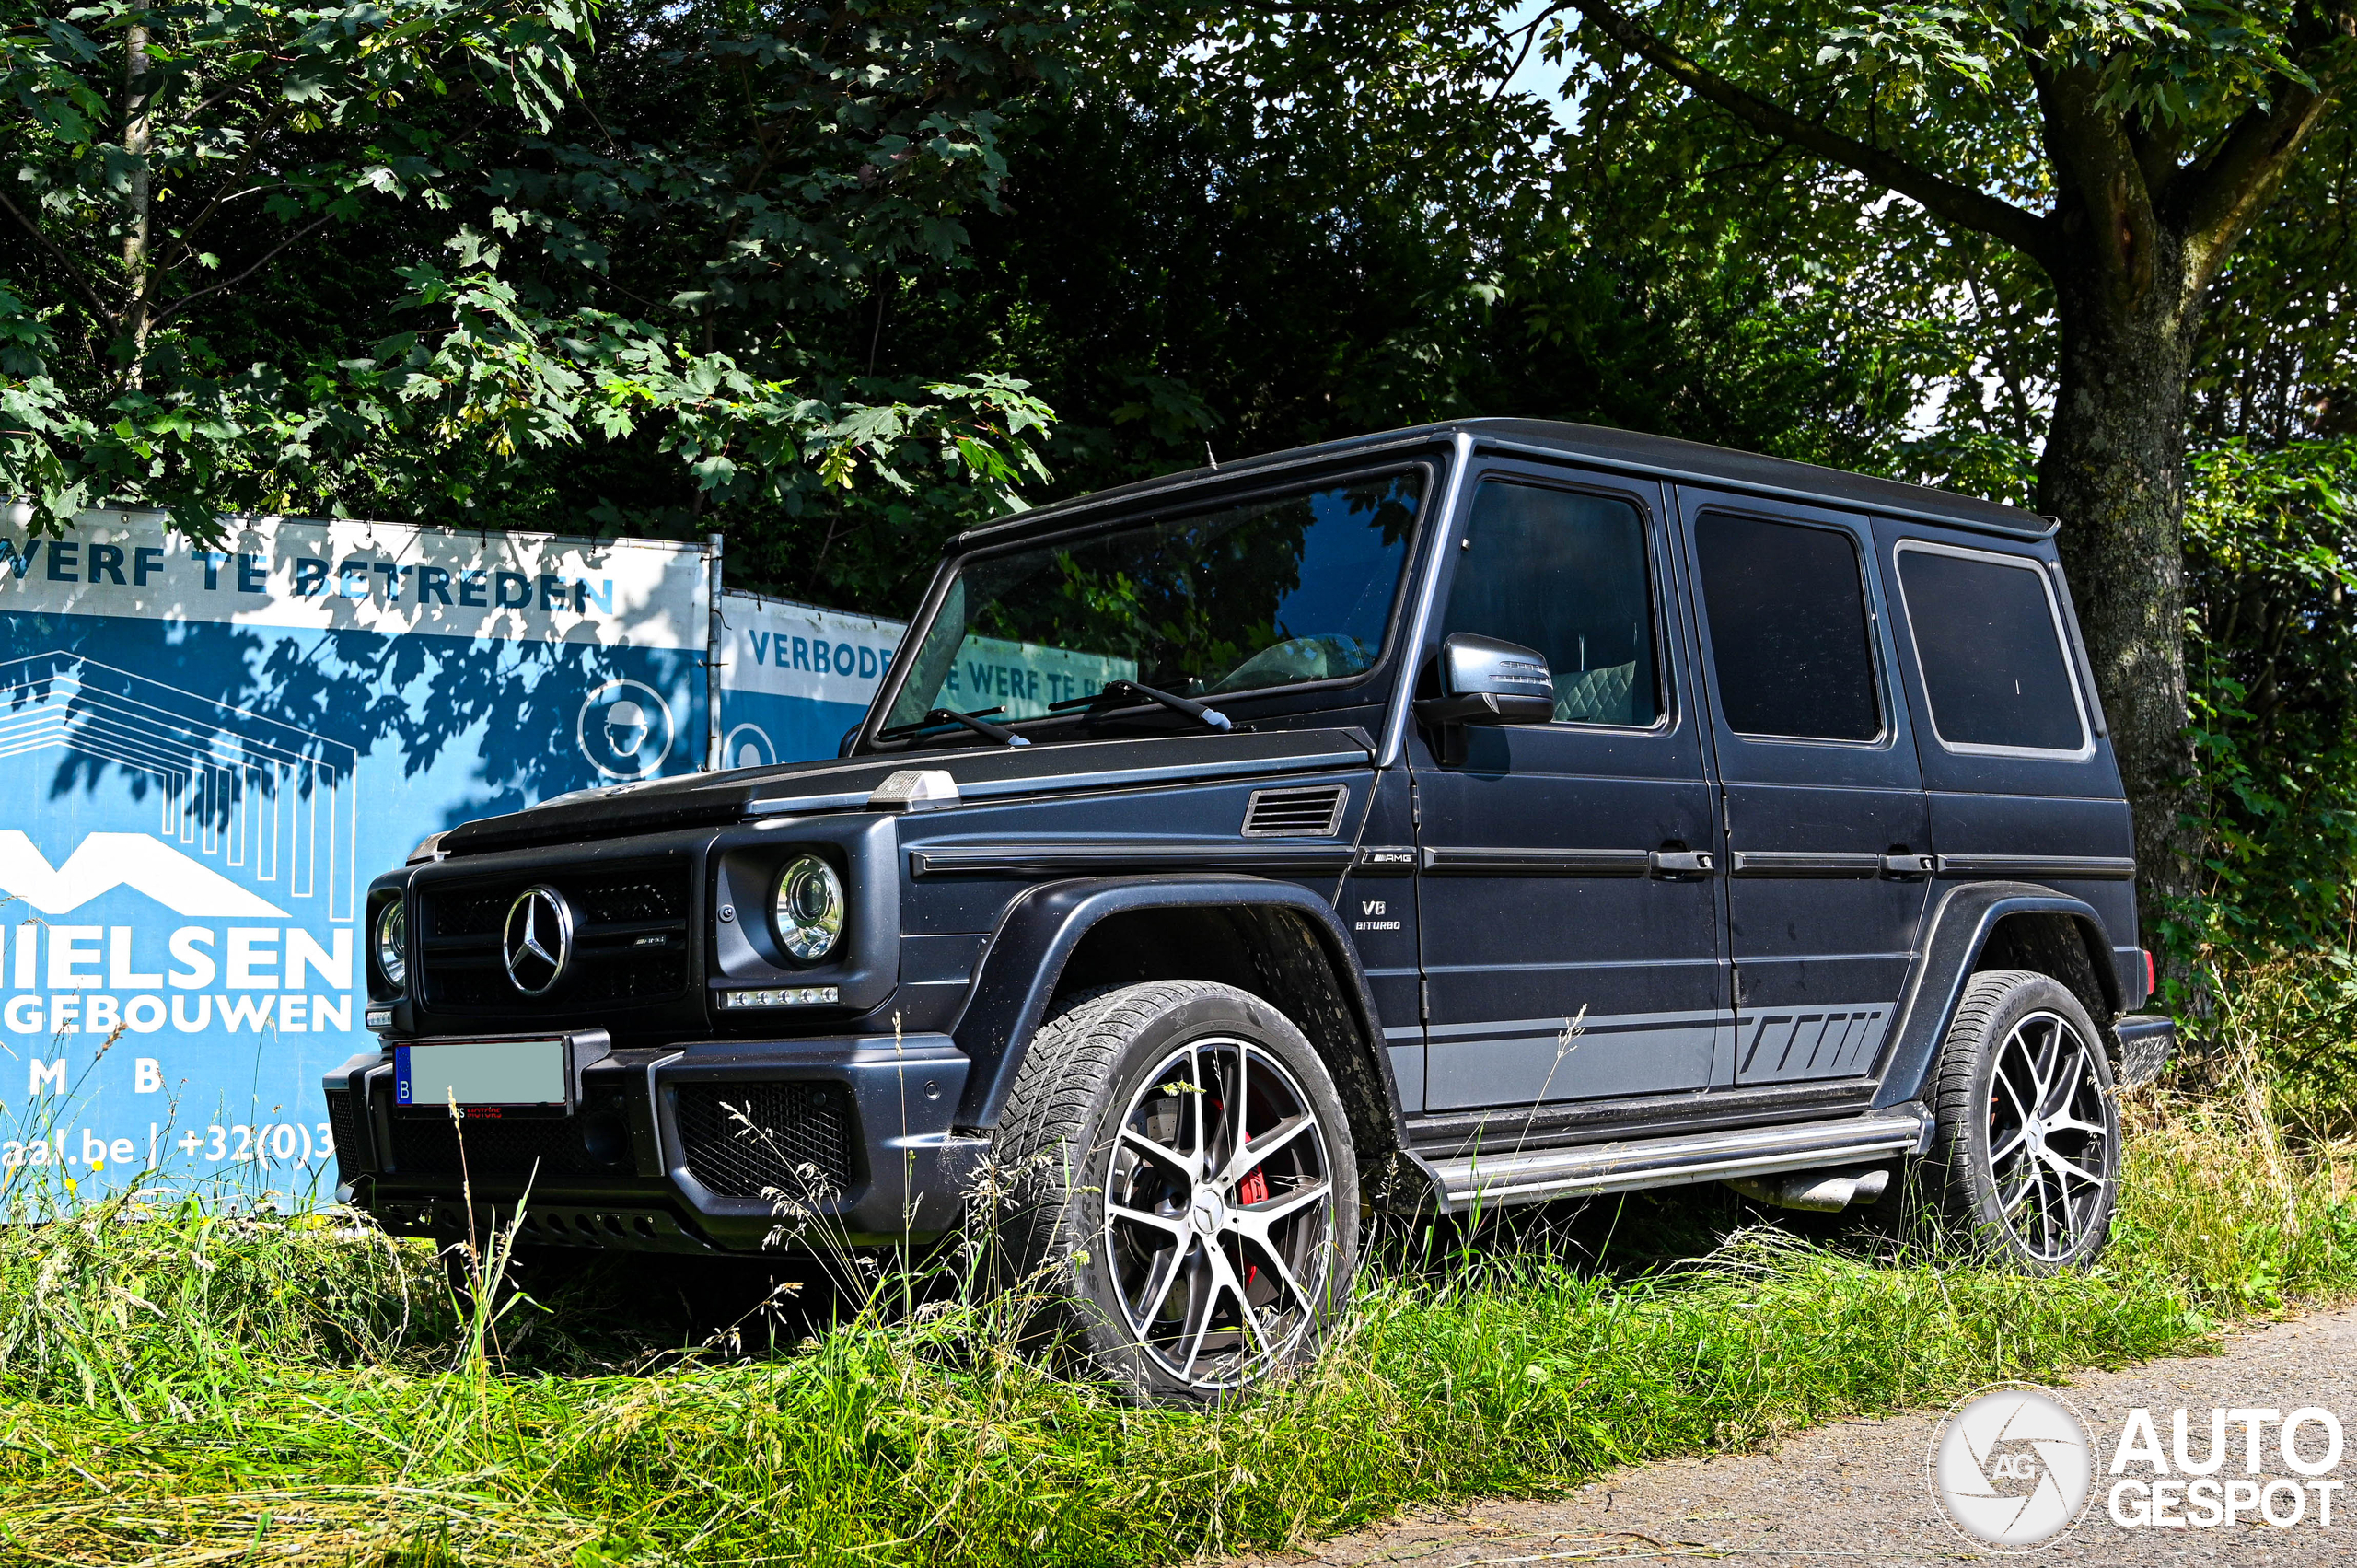
M 540 884 L 563 894 L 573 910 L 573 957 L 556 988 L 535 997 L 507 979 L 500 931 L 523 889 Z M 676 997 L 693 979 L 688 887 L 684 858 L 427 884 L 417 898 L 424 1002 L 441 1012 L 580 1014 Z

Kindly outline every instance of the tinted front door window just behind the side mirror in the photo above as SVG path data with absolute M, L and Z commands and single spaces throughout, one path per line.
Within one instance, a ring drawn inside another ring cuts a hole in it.
M 1558 724 L 1662 714 L 1645 516 L 1624 500 L 1483 483 L 1442 630 L 1544 653 Z

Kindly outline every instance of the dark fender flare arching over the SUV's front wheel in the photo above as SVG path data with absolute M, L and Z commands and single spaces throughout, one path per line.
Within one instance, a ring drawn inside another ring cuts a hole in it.
M 1275 908 L 1301 915 L 1318 934 L 1325 957 L 1341 979 L 1343 1000 L 1351 1004 L 1362 1042 L 1384 1037 L 1367 976 L 1358 964 L 1358 950 L 1341 929 L 1334 908 L 1306 887 L 1294 882 L 1270 882 L 1263 877 L 1216 877 L 1178 875 L 1129 879 L 1129 877 L 1075 877 L 1070 882 L 1042 882 L 1025 889 L 1006 913 L 999 915 L 997 931 L 976 969 L 973 990 L 950 1037 L 957 1040 L 971 1061 L 966 1092 L 957 1108 L 959 1127 L 995 1127 L 1023 1063 L 1023 1047 L 1047 1019 L 1056 981 L 1063 976 L 1072 950 L 1091 927 L 1110 915 L 1134 910 L 1176 908 Z M 1386 1052 L 1372 1049 L 1374 1070 L 1381 1075 L 1398 1115 L 1398 1089 L 1391 1082 Z

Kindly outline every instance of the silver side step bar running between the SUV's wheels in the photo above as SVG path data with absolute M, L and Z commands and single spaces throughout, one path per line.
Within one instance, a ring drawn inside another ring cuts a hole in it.
M 1789 1127 L 1744 1127 L 1579 1148 L 1475 1153 L 1459 1160 L 1409 1158 L 1433 1179 L 1442 1214 L 1475 1205 L 1546 1203 L 1643 1186 L 1688 1186 L 1784 1170 L 1869 1165 L 1921 1151 L 1930 1113 L 1921 1103 Z

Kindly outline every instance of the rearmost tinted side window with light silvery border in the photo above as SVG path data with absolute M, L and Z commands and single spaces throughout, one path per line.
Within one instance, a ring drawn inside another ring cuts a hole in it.
M 2086 745 L 2069 655 L 2036 564 L 1900 547 L 1900 594 L 1942 743 L 2039 752 Z

